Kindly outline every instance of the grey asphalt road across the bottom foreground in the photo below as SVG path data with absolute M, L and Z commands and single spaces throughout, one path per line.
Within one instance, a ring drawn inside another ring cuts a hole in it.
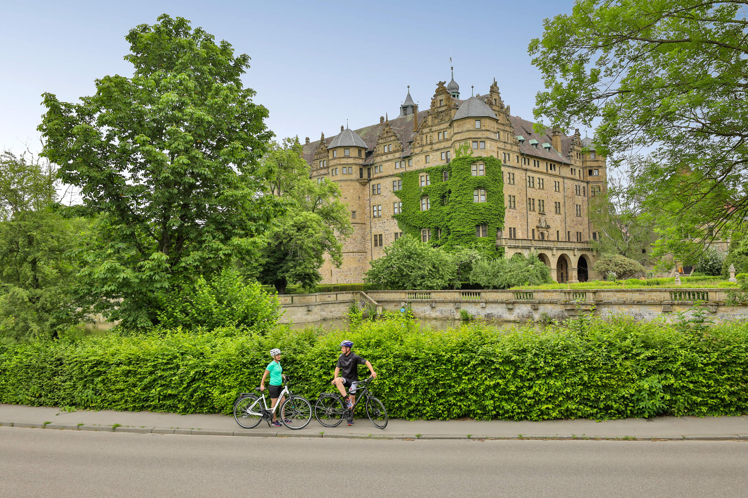
M 0 427 L 0 497 L 746 497 L 746 441 L 376 441 Z

